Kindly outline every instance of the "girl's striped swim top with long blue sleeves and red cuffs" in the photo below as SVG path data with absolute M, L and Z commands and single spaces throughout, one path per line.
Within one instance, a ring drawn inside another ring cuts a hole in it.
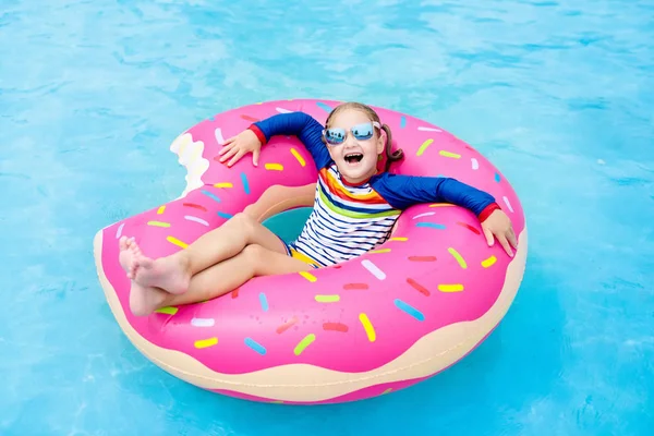
M 480 219 L 499 207 L 489 194 L 449 178 L 383 172 L 351 185 L 320 140 L 323 125 L 303 112 L 277 114 L 250 129 L 262 144 L 274 135 L 296 135 L 316 164 L 313 211 L 300 237 L 287 244 L 289 255 L 314 267 L 348 261 L 384 243 L 401 211 L 419 203 L 452 203 Z

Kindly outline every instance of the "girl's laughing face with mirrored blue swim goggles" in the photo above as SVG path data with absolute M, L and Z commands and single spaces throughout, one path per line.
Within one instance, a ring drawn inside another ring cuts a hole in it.
M 372 136 L 366 138 L 371 129 Z M 331 119 L 327 135 L 342 137 L 344 134 L 344 140 L 340 144 L 330 144 L 328 140 L 327 149 L 349 183 L 363 182 L 377 171 L 377 157 L 384 152 L 384 138 L 378 132 L 365 112 L 356 109 L 346 109 Z

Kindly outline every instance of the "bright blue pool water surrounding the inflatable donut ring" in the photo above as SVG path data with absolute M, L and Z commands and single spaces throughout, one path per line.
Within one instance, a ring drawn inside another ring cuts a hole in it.
M 1 0 L 0 434 L 654 434 L 654 2 L 272 3 Z M 95 232 L 182 192 L 184 129 L 293 97 L 429 120 L 516 186 L 523 286 L 449 371 L 358 403 L 251 403 L 117 326 Z

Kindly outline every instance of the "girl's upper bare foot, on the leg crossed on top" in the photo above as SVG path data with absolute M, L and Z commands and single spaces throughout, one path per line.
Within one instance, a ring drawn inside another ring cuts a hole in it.
M 175 295 L 189 290 L 191 270 L 183 253 L 153 261 L 141 253 L 135 242 L 132 243 L 132 247 L 134 250 L 134 281 L 136 283 L 144 288 L 160 288 Z

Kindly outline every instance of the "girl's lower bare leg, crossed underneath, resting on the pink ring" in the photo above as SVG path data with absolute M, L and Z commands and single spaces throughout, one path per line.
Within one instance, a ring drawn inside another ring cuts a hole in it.
M 256 276 L 312 269 L 311 265 L 287 254 L 251 244 L 240 254 L 193 276 L 189 291 L 183 294 L 175 295 L 153 287 L 134 289 L 140 284 L 132 282 L 131 295 L 135 295 L 135 298 L 130 298 L 130 308 L 135 316 L 145 316 L 160 307 L 196 303 L 220 296 Z

